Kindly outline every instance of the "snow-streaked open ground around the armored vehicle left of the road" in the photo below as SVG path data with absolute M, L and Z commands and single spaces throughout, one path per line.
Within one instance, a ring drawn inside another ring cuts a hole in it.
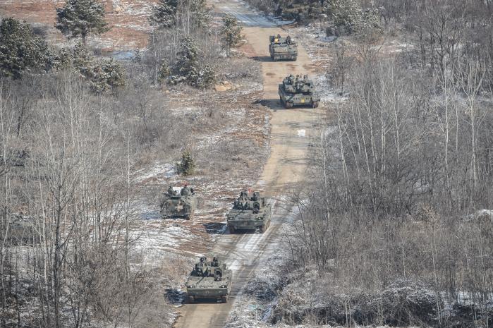
M 231 93 L 235 92 L 240 91 Z M 229 144 L 244 145 L 241 142 L 252 138 L 267 140 L 269 134 L 269 116 L 264 112 L 265 109 L 261 105 L 251 104 L 252 100 L 248 97 L 236 99 L 243 103 L 237 100 L 237 106 L 224 111 L 221 120 L 227 122 L 225 126 L 212 126 L 195 133 L 193 150 L 198 157 L 196 161 L 202 162 L 196 163 L 197 169 L 193 176 L 176 174 L 174 162 L 154 162 L 142 166 L 131 175 L 131 180 L 139 190 L 138 198 L 133 203 L 137 219 L 132 226 L 133 236 L 138 237 L 134 254 L 136 263 L 141 261 L 148 267 L 159 267 L 162 260 L 169 256 L 182 255 L 195 259 L 212 250 L 217 238 L 225 233 L 226 212 L 234 198 L 243 188 L 253 186 L 261 172 L 242 174 L 243 171 L 230 167 L 236 163 L 231 157 L 238 157 L 239 160 L 248 158 L 248 161 L 253 161 L 255 166 L 261 168 L 262 163 L 257 161 L 267 157 L 269 151 L 267 142 L 257 144 L 252 140 L 245 144 L 252 148 L 247 149 L 246 153 L 242 147 L 238 151 L 233 150 L 234 155 L 221 154 L 224 151 L 222 147 Z M 245 103 L 249 104 L 246 105 L 248 107 L 245 107 Z M 206 110 L 188 106 L 185 113 L 200 118 L 207 114 Z M 177 108 L 176 114 L 183 115 L 183 110 Z M 255 157 L 250 156 L 250 151 Z M 208 168 L 207 165 L 211 166 L 210 163 L 214 162 L 203 162 L 209 159 L 214 161 L 221 156 L 225 157 L 228 171 L 222 171 L 220 166 L 214 165 Z M 193 219 L 162 219 L 159 214 L 162 194 L 170 185 L 183 186 L 185 183 L 194 188 L 197 195 L 198 205 Z

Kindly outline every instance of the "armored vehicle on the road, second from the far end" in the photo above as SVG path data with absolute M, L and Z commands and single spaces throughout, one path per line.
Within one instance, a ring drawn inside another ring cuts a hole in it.
M 315 85 L 307 75 L 286 76 L 279 85 L 279 98 L 286 108 L 298 105 L 310 105 L 317 108 L 320 97 L 315 92 Z

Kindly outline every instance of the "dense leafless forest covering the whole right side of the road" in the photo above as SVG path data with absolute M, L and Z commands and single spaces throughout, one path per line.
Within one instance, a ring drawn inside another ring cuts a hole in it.
M 491 1 L 249 2 L 339 36 L 274 322 L 489 327 Z

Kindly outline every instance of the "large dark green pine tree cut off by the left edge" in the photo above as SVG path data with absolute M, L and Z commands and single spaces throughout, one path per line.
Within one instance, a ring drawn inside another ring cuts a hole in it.
M 32 28 L 14 18 L 4 18 L 0 25 L 0 74 L 20 78 L 28 69 L 51 67 L 54 55 L 47 42 Z

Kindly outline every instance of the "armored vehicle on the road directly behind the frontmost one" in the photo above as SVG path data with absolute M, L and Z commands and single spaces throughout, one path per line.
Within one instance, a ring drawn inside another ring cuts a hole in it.
M 243 190 L 228 213 L 227 225 L 230 233 L 236 229 L 259 229 L 264 233 L 270 225 L 272 205 L 267 198 L 255 191 Z

